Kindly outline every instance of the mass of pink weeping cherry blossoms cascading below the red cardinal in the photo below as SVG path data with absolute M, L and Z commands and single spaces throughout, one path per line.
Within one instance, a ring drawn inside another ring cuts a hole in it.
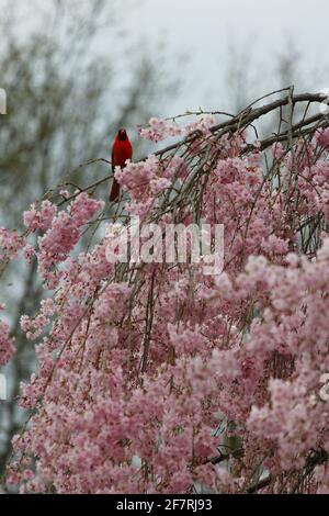
M 328 133 L 275 144 L 269 172 L 259 142 L 212 124 L 152 119 L 146 138 L 200 134 L 115 176 L 145 222 L 224 224 L 220 276 L 110 263 L 109 233 L 77 256 L 102 209 L 84 193 L 25 213 L 45 296 L 21 318 L 38 359 L 7 479 L 22 493 L 329 493 Z

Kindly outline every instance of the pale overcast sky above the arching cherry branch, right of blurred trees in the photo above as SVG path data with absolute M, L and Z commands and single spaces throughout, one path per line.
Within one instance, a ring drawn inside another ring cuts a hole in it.
M 159 114 L 227 109 L 230 47 L 250 55 L 249 96 L 282 86 L 275 56 L 293 52 L 292 42 L 300 55 L 299 89 L 329 87 L 328 0 L 138 0 L 131 13 L 126 23 L 135 37 L 150 49 L 166 42 L 173 69 L 184 76 L 180 93 Z M 178 56 L 189 60 L 177 65 Z

